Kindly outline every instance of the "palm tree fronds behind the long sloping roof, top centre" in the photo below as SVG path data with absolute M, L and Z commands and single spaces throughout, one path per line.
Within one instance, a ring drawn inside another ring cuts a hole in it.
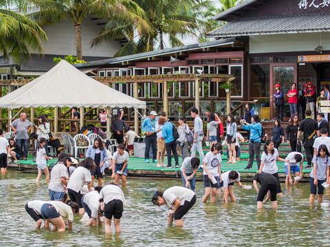
M 172 47 L 184 45 L 178 36 L 196 35 L 195 32 L 207 23 L 198 18 L 192 10 L 206 8 L 208 0 L 134 0 L 145 12 L 144 21 L 150 29 L 140 32 L 125 21 L 110 19 L 102 32 L 93 40 L 92 45 L 111 38 L 126 38 L 128 43 L 115 56 L 153 51 L 155 42 L 164 49 L 168 37 Z

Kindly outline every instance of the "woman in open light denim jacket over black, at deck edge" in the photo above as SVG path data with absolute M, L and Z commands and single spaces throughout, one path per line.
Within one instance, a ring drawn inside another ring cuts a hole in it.
M 98 180 L 98 186 L 103 186 L 103 173 L 101 172 L 101 167 L 105 165 L 108 158 L 107 149 L 104 148 L 103 141 L 100 137 L 94 140 L 94 144 L 89 146 L 86 154 L 86 158 L 93 158 L 96 165 L 96 169 L 91 171 L 92 184 L 94 179 Z

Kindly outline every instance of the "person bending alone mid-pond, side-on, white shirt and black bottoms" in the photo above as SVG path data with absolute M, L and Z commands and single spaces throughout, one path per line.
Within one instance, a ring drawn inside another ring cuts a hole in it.
M 173 224 L 173 220 L 175 220 L 175 226 L 184 226 L 182 217 L 194 206 L 196 194 L 191 189 L 173 186 L 166 189 L 164 192 L 156 191 L 151 201 L 158 206 L 166 204 L 172 209 L 172 211 L 168 213 L 167 220 L 169 226 Z

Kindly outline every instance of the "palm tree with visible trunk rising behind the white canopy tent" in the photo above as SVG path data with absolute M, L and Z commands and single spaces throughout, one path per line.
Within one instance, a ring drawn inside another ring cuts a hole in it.
M 76 56 L 83 60 L 82 26 L 87 16 L 98 18 L 116 16 L 128 23 L 140 21 L 143 10 L 133 0 L 21 0 L 20 8 L 38 9 L 29 16 L 40 25 L 71 19 L 76 30 Z M 132 12 L 131 12 L 132 10 Z M 144 22 L 142 22 L 142 27 Z

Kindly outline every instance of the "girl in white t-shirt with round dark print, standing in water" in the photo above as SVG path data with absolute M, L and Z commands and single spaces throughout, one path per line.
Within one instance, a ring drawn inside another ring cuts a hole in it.
M 205 194 L 202 202 L 206 202 L 211 196 L 211 203 L 217 199 L 217 189 L 220 189 L 221 182 L 221 143 L 212 145 L 211 151 L 203 159 L 203 183 Z

